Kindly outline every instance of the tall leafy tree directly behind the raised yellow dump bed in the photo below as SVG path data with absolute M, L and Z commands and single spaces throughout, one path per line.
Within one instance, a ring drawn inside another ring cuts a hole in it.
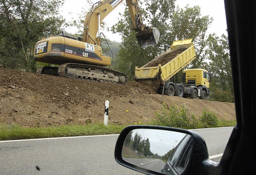
M 171 39 L 174 41 L 192 38 L 196 51 L 196 59 L 184 69 L 206 67 L 206 31 L 212 20 L 209 16 L 201 16 L 199 6 L 189 7 L 187 5 L 184 9 L 179 7 L 175 9 L 171 19 Z M 174 76 L 176 83 L 181 82 L 184 69 Z

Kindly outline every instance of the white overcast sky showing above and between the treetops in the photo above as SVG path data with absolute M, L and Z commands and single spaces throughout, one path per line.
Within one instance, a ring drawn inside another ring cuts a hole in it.
M 92 0 L 94 3 L 98 2 L 98 0 Z M 226 33 L 226 16 L 225 16 L 225 9 L 224 9 L 224 1 L 223 0 L 176 0 L 176 6 L 178 5 L 180 8 L 184 8 L 186 5 L 190 7 L 193 6 L 200 6 L 202 16 L 209 15 L 213 18 L 212 25 L 208 29 L 208 33 L 216 33 L 218 36 L 222 35 L 222 33 Z M 87 6 L 87 7 L 86 7 Z M 112 25 L 116 24 L 118 21 L 119 12 L 123 12 L 125 8 L 125 0 L 120 4 L 116 9 L 114 9 L 105 19 L 104 22 L 111 27 Z M 64 5 L 61 9 L 62 15 L 66 18 L 66 21 L 74 19 L 79 19 L 78 14 L 82 11 L 82 7 L 85 9 L 90 9 L 91 6 L 86 4 L 85 0 L 66 0 Z M 71 14 L 72 13 L 72 14 Z M 67 28 L 66 31 L 69 33 L 76 33 L 78 30 L 76 28 Z M 121 37 L 118 34 L 112 34 L 111 31 L 103 31 L 104 35 L 108 37 L 108 39 L 112 41 L 121 42 Z

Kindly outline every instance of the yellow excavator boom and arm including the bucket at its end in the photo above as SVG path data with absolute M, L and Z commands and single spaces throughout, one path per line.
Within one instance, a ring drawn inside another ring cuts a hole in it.
M 102 20 L 114 10 L 123 0 L 102 0 L 96 2 L 84 21 L 84 33 L 82 41 L 100 45 L 99 26 Z M 138 0 L 126 0 L 133 28 L 136 32 L 136 38 L 141 47 L 156 45 L 159 39 L 159 31 L 157 28 L 147 28 L 142 23 Z M 98 37 L 97 37 L 98 33 Z

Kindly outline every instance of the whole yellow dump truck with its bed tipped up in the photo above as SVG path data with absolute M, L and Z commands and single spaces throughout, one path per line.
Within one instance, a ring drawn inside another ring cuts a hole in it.
M 135 80 L 160 79 L 160 93 L 170 96 L 205 99 L 209 96 L 211 74 L 204 69 L 187 69 L 182 73 L 182 83 L 172 77 L 196 58 L 192 39 L 174 41 L 168 51 L 146 65 L 135 67 Z

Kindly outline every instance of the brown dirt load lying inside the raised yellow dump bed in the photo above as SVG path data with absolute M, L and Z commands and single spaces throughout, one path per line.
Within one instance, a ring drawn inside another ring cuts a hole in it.
M 168 63 L 169 61 L 171 61 L 172 59 L 174 59 L 178 54 L 182 53 L 185 50 L 186 49 L 180 49 L 180 50 L 176 50 L 173 52 L 170 52 L 170 50 L 168 50 L 142 67 L 155 67 L 158 65 L 163 66 L 166 63 Z

